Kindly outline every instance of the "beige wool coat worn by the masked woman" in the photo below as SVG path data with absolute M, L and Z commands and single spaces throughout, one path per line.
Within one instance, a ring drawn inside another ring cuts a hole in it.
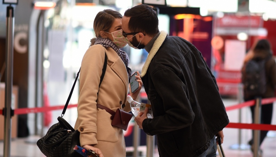
M 105 53 L 107 67 L 99 89 Z M 94 147 L 99 148 L 105 157 L 126 156 L 122 129 L 113 127 L 111 115 L 96 107 L 98 102 L 113 111 L 122 109 L 122 106 L 125 106 L 124 111 L 130 111 L 130 105 L 127 103 L 128 74 L 124 62 L 112 48 L 93 45 L 83 56 L 79 79 L 78 118 L 75 129 L 80 132 L 81 146 L 95 144 Z

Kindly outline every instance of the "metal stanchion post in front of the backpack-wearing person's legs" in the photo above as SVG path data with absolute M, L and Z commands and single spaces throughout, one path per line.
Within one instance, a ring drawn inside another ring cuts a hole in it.
M 261 105 L 262 105 L 262 99 L 257 98 L 256 104 L 255 104 L 255 110 L 254 110 L 254 123 L 260 124 L 261 123 Z M 254 130 L 254 144 L 253 144 L 253 156 L 258 157 L 259 156 L 259 142 L 260 142 L 260 130 Z

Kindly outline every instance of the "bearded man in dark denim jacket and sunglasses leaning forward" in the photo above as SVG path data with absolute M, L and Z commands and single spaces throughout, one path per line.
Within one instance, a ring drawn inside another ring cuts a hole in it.
M 190 42 L 159 32 L 158 17 L 148 5 L 125 11 L 123 35 L 133 48 L 149 52 L 141 78 L 153 118 L 147 110 L 135 121 L 156 135 L 160 157 L 215 157 L 215 135 L 229 123 L 216 79 Z

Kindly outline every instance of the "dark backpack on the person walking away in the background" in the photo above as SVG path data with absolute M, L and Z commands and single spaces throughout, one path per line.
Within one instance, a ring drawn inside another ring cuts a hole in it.
M 266 92 L 266 69 L 267 59 L 249 60 L 243 71 L 244 98 L 262 96 Z

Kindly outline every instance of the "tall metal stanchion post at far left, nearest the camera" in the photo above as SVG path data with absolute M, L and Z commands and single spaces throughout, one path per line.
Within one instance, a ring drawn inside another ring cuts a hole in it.
M 13 86 L 13 36 L 14 36 L 14 16 L 13 7 L 7 7 L 6 23 L 6 84 L 5 84 L 5 130 L 4 130 L 4 157 L 10 156 L 11 143 L 11 95 Z

